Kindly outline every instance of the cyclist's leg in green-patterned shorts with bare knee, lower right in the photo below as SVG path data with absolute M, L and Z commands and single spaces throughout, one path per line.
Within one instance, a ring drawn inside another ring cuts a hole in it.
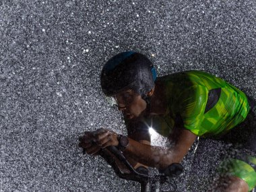
M 240 144 L 239 151 L 226 164 L 226 173 L 231 176 L 221 177 L 217 181 L 219 191 L 249 191 L 256 187 L 256 102 L 249 98 L 251 111 L 245 123 L 230 131 L 230 138 Z M 226 185 L 225 185 L 226 184 Z

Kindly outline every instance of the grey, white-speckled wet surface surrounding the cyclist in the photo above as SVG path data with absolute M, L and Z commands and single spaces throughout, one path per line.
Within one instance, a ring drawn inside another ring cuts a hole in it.
M 138 191 L 77 147 L 84 131 L 126 133 L 104 62 L 139 51 L 158 75 L 204 70 L 255 98 L 255 45 L 255 1 L 1 0 L 0 191 Z M 199 139 L 177 190 L 205 191 L 225 147 Z

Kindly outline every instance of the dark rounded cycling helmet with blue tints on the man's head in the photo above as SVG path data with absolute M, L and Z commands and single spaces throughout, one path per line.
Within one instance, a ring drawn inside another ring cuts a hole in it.
M 146 98 L 154 88 L 156 69 L 151 61 L 140 53 L 127 51 L 109 59 L 102 68 L 100 82 L 106 96 L 124 90 L 133 90 Z

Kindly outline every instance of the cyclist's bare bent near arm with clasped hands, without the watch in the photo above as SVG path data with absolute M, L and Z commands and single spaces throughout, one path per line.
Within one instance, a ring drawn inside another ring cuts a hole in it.
M 124 154 L 135 160 L 135 162 L 164 169 L 174 162 L 181 162 L 189 148 L 191 148 L 195 138 L 196 135 L 191 131 L 181 129 L 170 148 L 150 146 L 129 138 L 129 146 L 125 149 Z M 100 134 L 94 137 L 93 141 L 97 143 L 98 148 L 118 145 L 117 134 L 107 129 L 101 129 Z M 85 148 L 88 154 L 96 154 L 99 150 L 88 141 L 82 141 L 81 147 Z

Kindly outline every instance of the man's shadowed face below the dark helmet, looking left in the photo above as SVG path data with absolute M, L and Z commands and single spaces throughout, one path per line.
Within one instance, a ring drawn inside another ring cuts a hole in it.
M 120 92 L 114 97 L 117 100 L 119 110 L 121 110 L 123 115 L 128 119 L 139 117 L 147 106 L 146 101 L 143 100 L 139 94 L 133 92 L 133 90 Z

